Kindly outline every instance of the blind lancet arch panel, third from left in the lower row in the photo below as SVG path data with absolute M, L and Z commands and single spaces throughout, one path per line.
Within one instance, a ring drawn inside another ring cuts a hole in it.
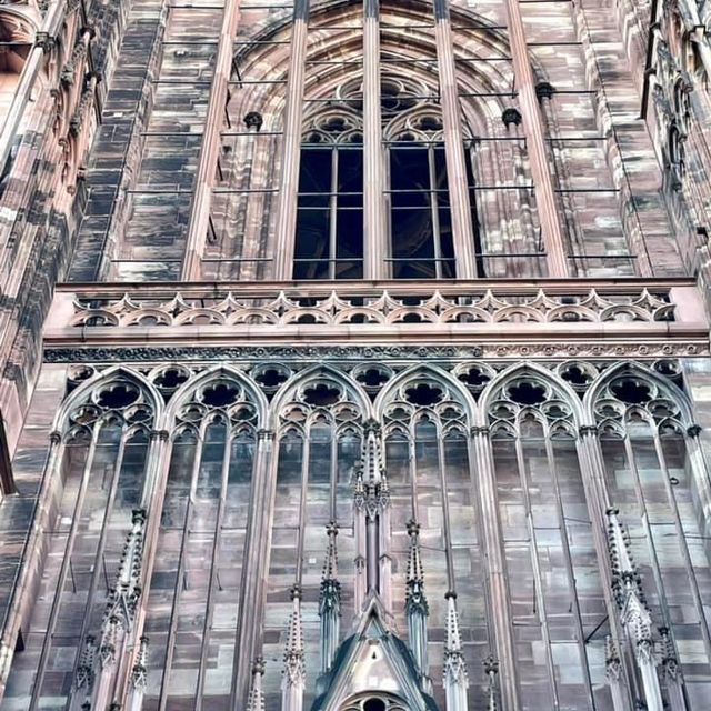
M 337 530 L 338 568 L 330 574 L 340 583 L 343 619 L 356 613 L 356 543 L 353 489 L 362 455 L 364 397 L 353 384 L 329 371 L 304 373 L 273 403 L 278 418 L 278 452 L 271 550 L 264 614 L 264 651 L 268 659 L 283 654 L 289 628 L 290 590 L 301 591 L 303 634 L 319 639 L 319 598 L 329 561 L 327 527 Z M 338 632 L 337 632 L 338 634 Z M 333 650 L 334 651 L 334 650 Z M 324 668 L 320 644 L 306 645 L 310 674 Z M 326 663 L 328 667 L 328 663 Z M 269 708 L 281 702 L 281 668 L 268 665 L 264 698 Z M 313 699 L 307 687 L 304 708 Z

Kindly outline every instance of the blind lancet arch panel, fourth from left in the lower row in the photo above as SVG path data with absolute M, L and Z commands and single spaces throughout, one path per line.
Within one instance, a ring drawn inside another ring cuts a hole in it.
M 482 698 L 482 660 L 490 653 L 479 508 L 471 479 L 468 448 L 469 410 L 467 397 L 447 378 L 423 371 L 393 382 L 379 404 L 382 412 L 385 470 L 392 500 L 393 570 L 392 609 L 403 614 L 403 601 L 415 592 L 417 572 L 408 563 L 410 519 L 419 528 L 423 591 L 429 612 L 430 648 L 421 673 L 435 680 L 434 695 L 444 708 L 439 680 L 443 675 L 445 639 L 445 593 L 457 594 L 462 633 L 462 651 L 472 670 L 470 708 Z M 420 603 L 421 604 L 421 603 Z M 407 629 L 407 625 L 403 624 Z M 438 640 L 438 641 L 433 641 Z M 415 653 L 418 640 L 410 639 Z M 421 654 L 423 655 L 423 654 Z M 427 660 L 430 663 L 427 664 Z M 427 689 L 427 682 L 424 688 Z

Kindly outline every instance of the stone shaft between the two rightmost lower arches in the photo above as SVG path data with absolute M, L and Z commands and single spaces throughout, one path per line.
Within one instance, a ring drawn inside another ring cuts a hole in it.
M 612 567 L 608 548 L 607 515 L 610 508 L 610 497 L 604 480 L 604 460 L 598 428 L 594 425 L 582 425 L 579 430 L 577 441 L 578 459 L 582 474 L 582 484 L 585 492 L 588 513 L 590 514 L 592 540 L 598 558 L 598 570 L 602 582 L 604 594 L 604 605 L 610 623 L 610 631 L 618 649 L 623 648 L 624 634 L 620 623 L 617 603 L 612 597 Z M 633 698 L 630 688 L 629 672 L 625 664 L 621 665 L 622 687 L 621 693 L 627 700 L 628 707 L 633 708 Z M 619 689 L 615 692 L 620 692 Z M 615 711 L 618 710 L 615 707 Z

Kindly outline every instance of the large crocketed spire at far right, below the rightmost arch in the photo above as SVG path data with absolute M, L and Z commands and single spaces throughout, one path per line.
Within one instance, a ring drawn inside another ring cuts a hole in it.
M 608 509 L 608 542 L 612 565 L 612 592 L 620 610 L 620 622 L 634 649 L 648 711 L 662 711 L 662 695 L 657 675 L 652 615 L 647 607 L 642 579 L 630 552 L 630 540 L 618 519 L 617 509 Z

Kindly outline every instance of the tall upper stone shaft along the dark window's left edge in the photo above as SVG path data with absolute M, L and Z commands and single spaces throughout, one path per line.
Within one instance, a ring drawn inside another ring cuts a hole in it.
M 276 237 L 274 243 L 272 244 L 274 256 L 273 278 L 278 281 L 289 280 L 293 274 L 297 232 L 297 193 L 299 190 L 299 168 L 301 164 L 301 123 L 303 118 L 303 91 L 309 29 L 309 0 L 294 0 L 291 28 L 291 56 L 289 59 L 289 81 L 287 84 L 283 160 L 279 184 Z

